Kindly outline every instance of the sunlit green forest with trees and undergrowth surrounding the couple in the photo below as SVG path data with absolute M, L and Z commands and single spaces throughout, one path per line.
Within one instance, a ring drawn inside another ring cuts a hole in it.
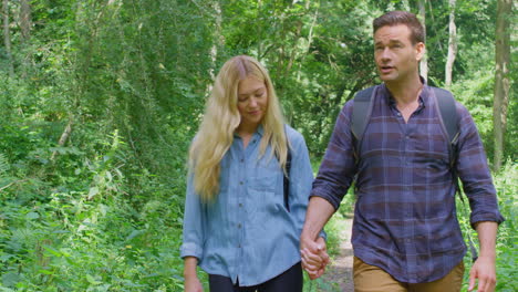
M 507 219 L 497 291 L 518 291 L 511 0 L 2 0 L 0 291 L 183 291 L 187 149 L 221 64 L 268 67 L 317 171 L 343 104 L 380 83 L 390 10 L 418 14 L 422 75 L 477 123 Z

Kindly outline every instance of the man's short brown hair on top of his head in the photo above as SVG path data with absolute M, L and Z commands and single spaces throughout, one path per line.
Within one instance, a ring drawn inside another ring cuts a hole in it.
M 411 30 L 412 44 L 418 42 L 424 43 L 424 28 L 419 20 L 414 13 L 406 11 L 390 11 L 385 14 L 376 18 L 372 22 L 373 34 L 376 33 L 382 27 L 394 27 L 397 24 L 404 24 Z

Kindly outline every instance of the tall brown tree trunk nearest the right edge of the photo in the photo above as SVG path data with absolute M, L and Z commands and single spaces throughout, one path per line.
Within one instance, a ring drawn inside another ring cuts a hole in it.
M 495 157 L 493 169 L 500 170 L 504 158 L 504 138 L 507 128 L 509 105 L 510 19 L 512 0 L 498 0 L 496 23 L 496 73 L 493 101 L 493 127 L 495 133 Z

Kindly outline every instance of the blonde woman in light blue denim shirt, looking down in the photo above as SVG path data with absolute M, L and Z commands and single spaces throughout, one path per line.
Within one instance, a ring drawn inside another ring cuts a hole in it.
M 189 150 L 185 291 L 203 291 L 197 265 L 210 291 L 302 291 L 299 237 L 312 180 L 305 142 L 284 125 L 266 69 L 246 55 L 227 61 Z

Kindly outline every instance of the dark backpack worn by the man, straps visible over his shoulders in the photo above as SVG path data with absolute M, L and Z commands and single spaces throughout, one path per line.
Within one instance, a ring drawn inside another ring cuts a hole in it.
M 359 91 L 354 96 L 354 106 L 353 113 L 351 118 L 351 132 L 355 139 L 354 145 L 354 158 L 356 160 L 356 165 L 360 161 L 360 147 L 363 139 L 363 134 L 365 128 L 371 119 L 372 107 L 373 107 L 373 95 L 375 93 L 375 87 L 372 86 L 363 91 Z M 437 109 L 439 113 L 439 121 L 441 126 L 443 127 L 443 133 L 447 135 L 448 143 L 448 153 L 449 153 L 449 168 L 452 169 L 453 180 L 455 184 L 456 192 L 458 192 L 460 200 L 463 201 L 464 208 L 466 205 L 464 202 L 464 198 L 460 195 L 460 188 L 458 186 L 458 176 L 455 168 L 455 161 L 457 159 L 457 143 L 458 143 L 458 135 L 459 135 L 459 127 L 458 127 L 458 116 L 455 106 L 455 98 L 453 97 L 449 91 L 433 87 L 431 88 L 434 91 L 435 96 L 437 97 Z M 466 210 L 464 210 L 466 212 Z M 469 249 L 472 252 L 473 261 L 475 262 L 477 259 L 477 250 L 475 249 L 472 238 L 468 233 L 469 239 Z

